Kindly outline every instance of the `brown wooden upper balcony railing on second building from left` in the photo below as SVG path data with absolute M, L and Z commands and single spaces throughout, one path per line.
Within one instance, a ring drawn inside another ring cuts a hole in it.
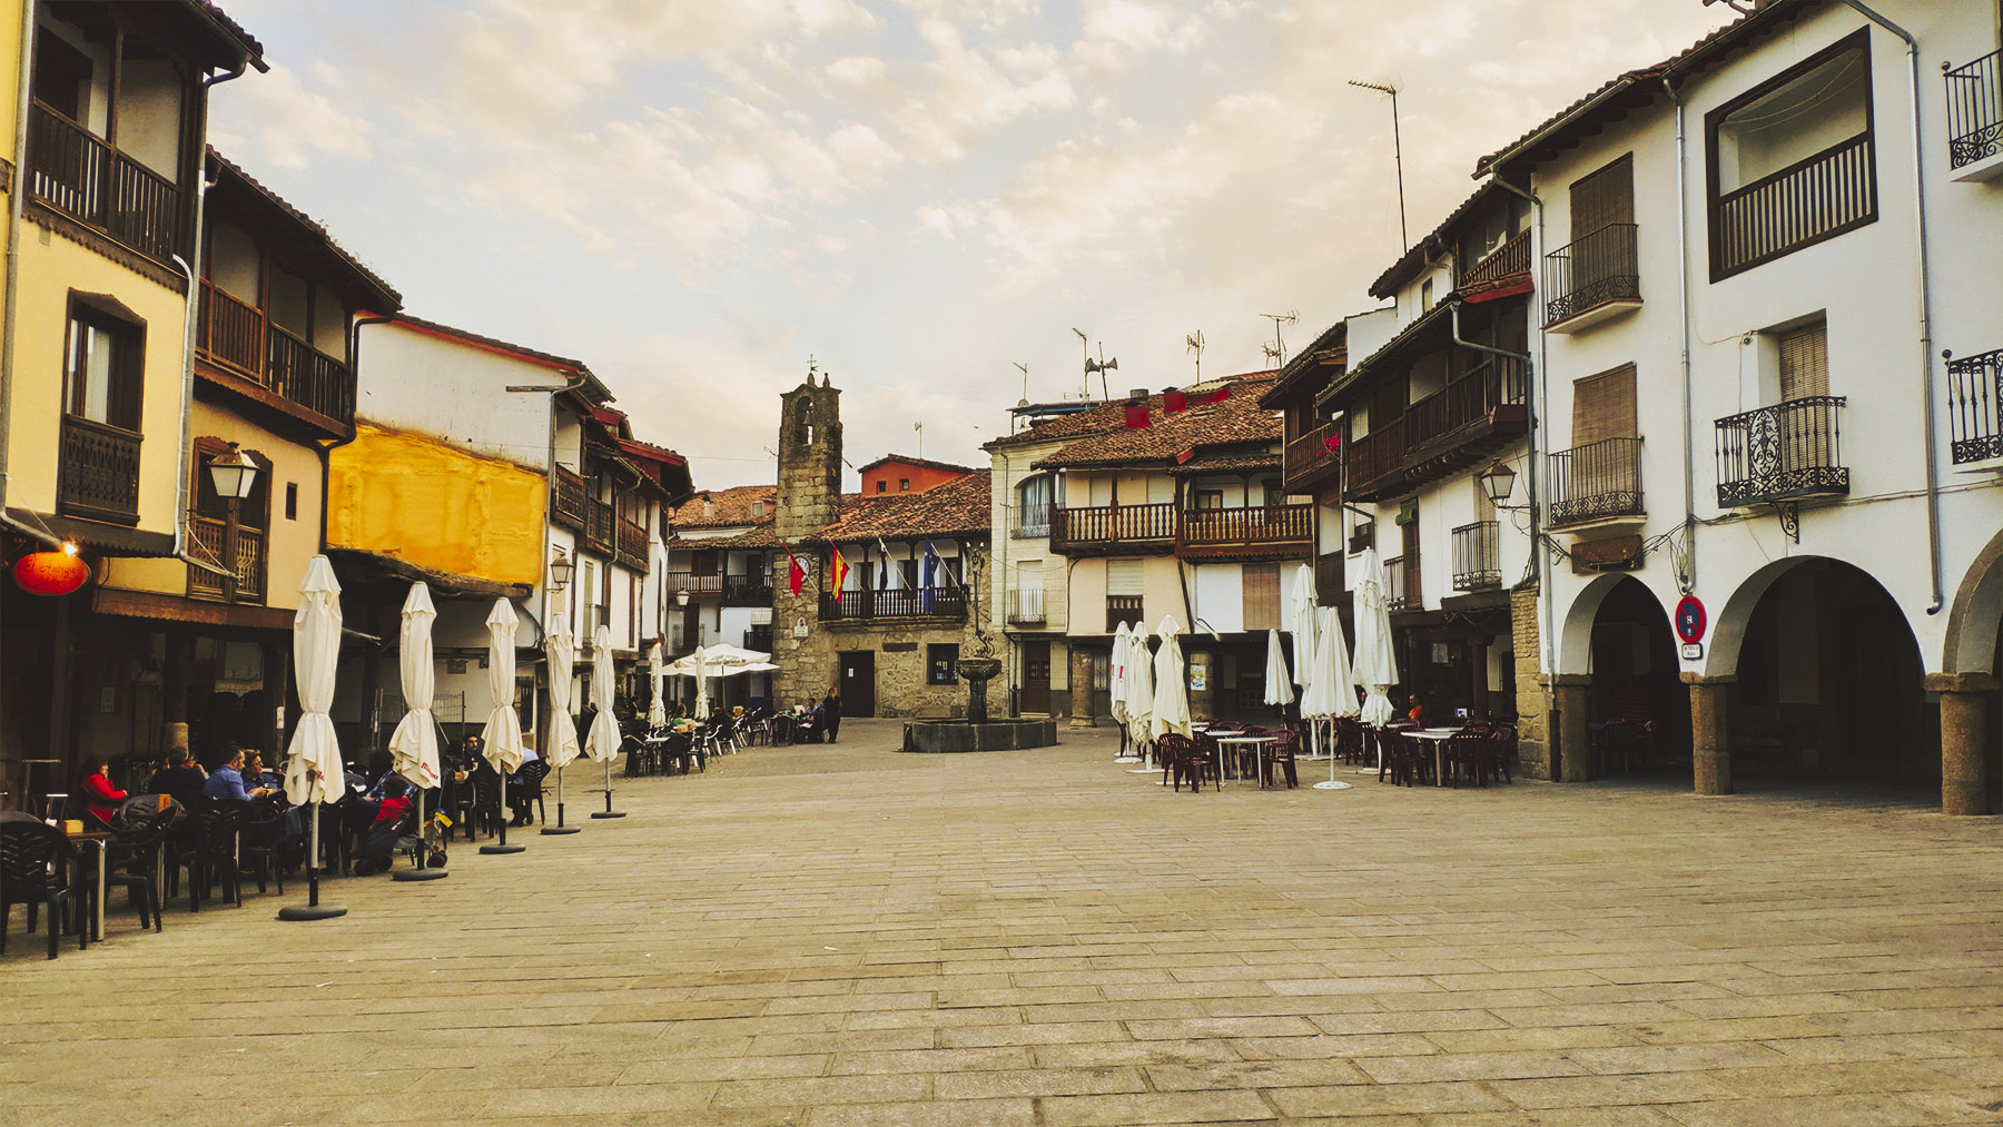
M 337 430 L 355 422 L 355 378 L 337 356 L 272 324 L 264 310 L 202 282 L 194 350 L 210 364 L 302 406 Z

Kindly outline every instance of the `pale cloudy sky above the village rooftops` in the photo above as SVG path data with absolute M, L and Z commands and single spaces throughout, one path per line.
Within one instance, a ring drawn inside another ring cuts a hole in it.
M 214 144 L 407 310 L 579 356 L 697 486 L 771 480 L 809 356 L 853 464 L 1006 408 L 1270 366 L 1368 308 L 1474 160 L 1699 0 L 224 0 Z M 1094 390 L 1098 384 L 1094 382 Z M 913 424 L 923 422 L 923 432 Z M 853 478 L 851 478 L 853 480 Z

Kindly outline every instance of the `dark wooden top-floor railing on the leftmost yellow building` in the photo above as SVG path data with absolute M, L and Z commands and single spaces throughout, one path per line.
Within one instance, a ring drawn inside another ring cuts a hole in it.
M 28 194 L 162 266 L 182 248 L 180 188 L 42 102 L 28 114 Z

